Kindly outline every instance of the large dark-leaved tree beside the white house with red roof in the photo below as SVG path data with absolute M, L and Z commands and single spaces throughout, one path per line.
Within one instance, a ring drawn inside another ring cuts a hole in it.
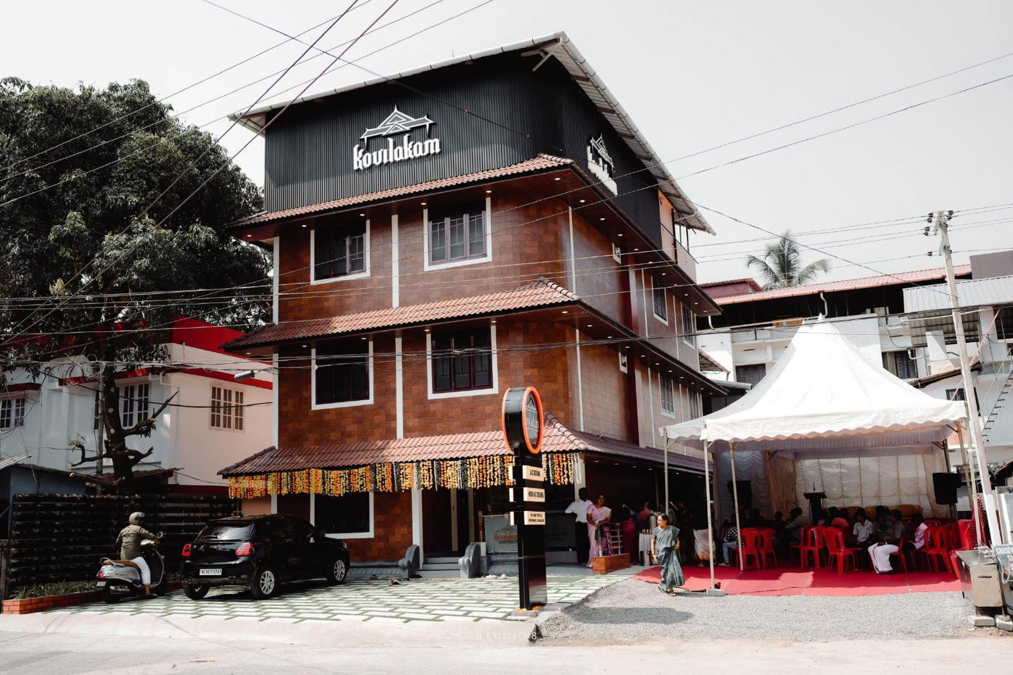
M 262 322 L 269 256 L 225 232 L 260 206 L 225 151 L 144 81 L 75 90 L 0 80 L 0 371 L 37 379 L 56 360 L 80 362 L 102 392 L 105 440 L 90 455 L 81 439 L 69 445 L 76 464 L 111 460 L 122 493 L 152 452 L 131 439 L 150 436 L 168 401 L 124 428 L 114 374 L 165 360 L 179 316 Z M 236 286 L 246 288 L 197 292 Z M 152 293 L 178 290 L 193 292 Z

